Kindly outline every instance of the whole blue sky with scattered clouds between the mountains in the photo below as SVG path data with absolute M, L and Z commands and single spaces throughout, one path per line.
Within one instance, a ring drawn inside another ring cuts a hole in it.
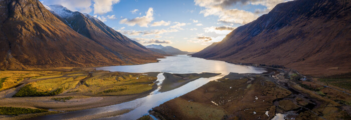
M 40 0 L 88 13 L 143 45 L 200 51 L 287 0 Z

